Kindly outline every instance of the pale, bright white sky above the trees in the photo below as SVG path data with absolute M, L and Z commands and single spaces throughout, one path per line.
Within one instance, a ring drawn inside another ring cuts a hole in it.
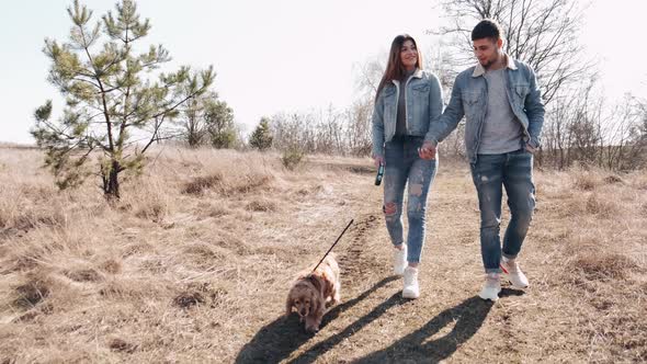
M 82 1 L 99 20 L 114 0 Z M 31 144 L 33 112 L 63 99 L 47 82 L 45 37 L 66 41 L 71 0 L 0 0 L 0 141 Z M 428 34 L 442 22 L 434 0 L 139 0 L 152 29 L 147 44 L 162 44 L 173 60 L 164 66 L 214 66 L 214 89 L 250 133 L 261 116 L 279 112 L 344 107 L 356 96 L 356 67 L 383 57 L 391 39 L 411 34 L 431 49 Z M 642 45 L 647 2 L 593 0 L 581 42 L 599 61 L 608 100 L 626 92 L 647 98 L 647 48 Z

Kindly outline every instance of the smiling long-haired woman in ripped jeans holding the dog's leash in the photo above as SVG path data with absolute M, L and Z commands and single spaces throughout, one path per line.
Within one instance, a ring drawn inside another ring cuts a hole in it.
M 421 66 L 416 41 L 407 34 L 396 36 L 373 112 L 373 159 L 385 167 L 383 211 L 394 244 L 394 272 L 405 277 L 405 298 L 420 296 L 418 264 L 424 243 L 427 194 L 438 167 L 435 159 L 421 158 L 420 147 L 430 123 L 443 109 L 438 78 Z M 405 243 L 401 212 L 407 184 L 409 231 Z

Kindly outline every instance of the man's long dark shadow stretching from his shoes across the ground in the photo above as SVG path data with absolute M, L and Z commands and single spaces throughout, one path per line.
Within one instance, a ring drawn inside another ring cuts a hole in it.
M 500 296 L 519 296 L 523 292 L 503 288 Z M 467 298 L 459 305 L 447 308 L 420 329 L 396 341 L 390 346 L 373 352 L 353 363 L 439 363 L 452 354 L 483 326 L 492 308 L 492 303 L 478 296 Z M 449 333 L 430 340 L 449 325 Z

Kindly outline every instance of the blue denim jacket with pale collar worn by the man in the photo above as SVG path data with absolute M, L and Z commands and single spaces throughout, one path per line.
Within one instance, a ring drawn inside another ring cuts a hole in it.
M 523 126 L 523 140 L 532 148 L 537 148 L 544 124 L 544 103 L 536 76 L 526 64 L 507 55 L 504 57 L 508 101 L 514 116 Z M 432 124 L 425 138 L 427 141 L 438 145 L 456 128 L 463 116 L 466 116 L 465 148 L 470 163 L 476 163 L 487 112 L 488 87 L 484 73 L 484 67 L 478 64 L 456 77 L 450 104 L 438 123 Z

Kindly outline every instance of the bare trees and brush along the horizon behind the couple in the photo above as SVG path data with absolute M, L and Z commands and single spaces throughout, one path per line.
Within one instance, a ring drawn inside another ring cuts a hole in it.
M 546 168 L 574 164 L 612 170 L 647 167 L 647 101 L 627 95 L 610 104 L 599 91 L 597 64 L 586 57 L 579 29 L 586 3 L 578 0 L 441 1 L 452 25 L 431 30 L 438 46 L 423 52 L 424 67 L 441 80 L 449 101 L 456 73 L 475 64 L 469 30 L 479 20 L 503 27 L 504 50 L 536 71 L 546 106 L 536 162 Z M 386 59 L 386 55 L 382 57 Z M 384 59 L 356 69 L 361 101 L 342 112 L 281 114 L 270 120 L 273 146 L 305 152 L 370 152 L 372 100 Z M 441 145 L 443 158 L 464 159 L 464 124 Z

